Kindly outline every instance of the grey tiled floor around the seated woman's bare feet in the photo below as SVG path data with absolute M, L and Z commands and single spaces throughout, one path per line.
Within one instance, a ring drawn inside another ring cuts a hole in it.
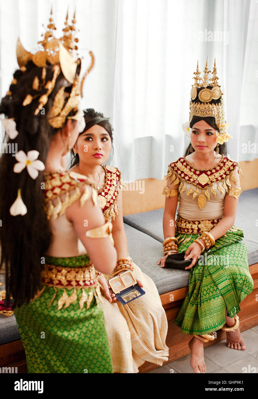
M 204 348 L 204 359 L 207 373 L 243 373 L 243 367 L 256 367 L 258 373 L 258 326 L 242 332 L 246 350 L 227 348 L 226 340 Z M 254 372 L 254 369 L 252 369 Z M 193 373 L 190 366 L 190 355 L 172 361 L 149 373 Z

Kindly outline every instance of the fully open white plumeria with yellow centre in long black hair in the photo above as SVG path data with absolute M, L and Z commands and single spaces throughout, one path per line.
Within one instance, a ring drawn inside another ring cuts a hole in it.
M 38 156 L 39 152 L 36 150 L 28 151 L 27 155 L 22 150 L 18 151 L 15 156 L 18 163 L 14 165 L 14 172 L 21 173 L 27 167 L 29 176 L 32 179 L 36 179 L 39 175 L 39 170 L 45 169 L 43 162 L 37 159 Z

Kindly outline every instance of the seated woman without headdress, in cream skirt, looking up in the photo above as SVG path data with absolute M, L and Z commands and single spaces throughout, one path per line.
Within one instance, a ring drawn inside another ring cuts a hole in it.
M 113 239 L 117 250 L 117 265 L 113 273 L 130 269 L 146 294 L 122 305 L 109 292 L 107 280 L 100 275 L 105 298 L 105 327 L 108 333 L 113 370 L 117 373 L 137 373 L 145 361 L 158 365 L 168 360 L 166 334 L 168 323 L 158 290 L 150 277 L 141 272 L 128 255 L 127 238 L 123 225 L 122 191 L 124 185 L 119 170 L 105 165 L 113 142 L 112 127 L 103 114 L 94 109 L 84 111 L 86 127 L 73 147 L 70 170 L 90 178 L 96 184 L 104 217 L 112 221 Z M 99 274 L 96 266 L 97 274 Z

